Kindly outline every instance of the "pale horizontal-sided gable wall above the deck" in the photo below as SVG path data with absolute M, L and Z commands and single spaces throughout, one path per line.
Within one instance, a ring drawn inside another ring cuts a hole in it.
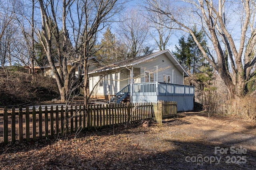
M 166 57 L 166 55 L 162 54 L 158 57 L 150 59 L 144 63 L 140 63 L 139 66 L 140 74 L 144 75 L 144 72 L 152 72 L 154 73 L 154 81 L 164 82 L 163 74 L 171 76 L 171 82 L 173 84 L 183 84 L 183 73 L 179 72 L 176 66 Z M 158 69 L 156 70 L 156 66 Z M 172 70 L 173 70 L 173 82 L 172 82 Z M 156 78 L 158 80 L 156 80 Z M 141 82 L 145 82 L 144 76 L 141 77 Z

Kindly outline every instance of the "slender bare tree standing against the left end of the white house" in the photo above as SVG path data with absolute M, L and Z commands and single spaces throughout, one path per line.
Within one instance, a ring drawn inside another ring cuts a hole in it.
M 94 53 L 97 33 L 114 21 L 112 17 L 124 8 L 124 0 L 86 0 L 82 1 L 84 28 L 82 31 L 84 61 L 84 104 L 88 102 L 88 58 Z

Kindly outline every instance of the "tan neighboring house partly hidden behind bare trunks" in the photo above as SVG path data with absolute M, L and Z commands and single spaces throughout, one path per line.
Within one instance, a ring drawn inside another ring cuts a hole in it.
M 89 68 L 88 68 L 89 71 L 92 71 L 100 66 L 99 61 L 95 57 L 89 57 L 88 63 L 89 63 Z M 69 72 L 72 64 L 73 63 L 71 63 L 71 62 L 67 63 L 68 72 Z M 56 66 L 57 71 L 60 72 L 60 63 L 55 63 L 55 66 Z M 45 66 L 41 66 L 40 68 L 41 68 L 42 72 L 44 72 L 44 76 L 55 78 L 50 64 L 46 64 Z M 81 69 L 81 68 L 78 66 L 76 68 L 75 76 L 78 76 L 79 69 Z M 83 74 L 83 70 L 82 70 L 82 74 Z

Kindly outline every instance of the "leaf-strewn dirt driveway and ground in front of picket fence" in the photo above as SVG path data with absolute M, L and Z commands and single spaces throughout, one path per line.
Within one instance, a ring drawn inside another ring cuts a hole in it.
M 76 139 L 59 137 L 2 147 L 0 168 L 253 170 L 256 123 L 180 113 L 162 126 L 122 125 L 79 133 Z

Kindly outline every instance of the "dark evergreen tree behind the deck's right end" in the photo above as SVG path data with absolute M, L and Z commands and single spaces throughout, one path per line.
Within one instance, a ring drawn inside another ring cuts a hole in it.
M 203 31 L 197 31 L 196 27 L 193 31 L 202 47 L 207 49 Z M 188 84 L 195 86 L 197 101 L 203 104 L 204 109 L 213 109 L 216 102 L 214 96 L 216 87 L 213 83 L 215 76 L 212 66 L 203 57 L 191 35 L 187 39 L 182 36 L 178 43 L 179 45 L 176 46 L 176 51 L 173 54 L 188 72 Z

